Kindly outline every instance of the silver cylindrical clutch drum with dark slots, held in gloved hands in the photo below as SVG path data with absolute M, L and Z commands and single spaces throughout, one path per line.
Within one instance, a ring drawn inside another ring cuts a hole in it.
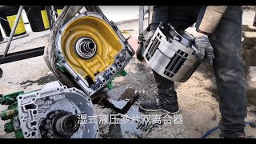
M 160 23 L 143 57 L 162 77 L 173 82 L 186 82 L 202 62 L 197 53 L 192 35 Z

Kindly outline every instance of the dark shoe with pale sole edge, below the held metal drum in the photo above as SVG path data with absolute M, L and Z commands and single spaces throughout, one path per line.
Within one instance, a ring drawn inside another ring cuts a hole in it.
M 154 98 L 146 101 L 142 101 L 138 103 L 138 106 L 141 110 L 145 111 L 163 111 L 167 114 L 178 114 L 178 102 L 172 102 L 166 104 L 165 102 L 162 102 L 159 98 Z

